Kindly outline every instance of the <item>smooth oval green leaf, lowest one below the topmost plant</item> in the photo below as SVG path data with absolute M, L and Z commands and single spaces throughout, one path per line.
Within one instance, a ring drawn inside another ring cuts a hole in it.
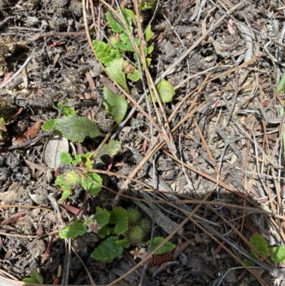
M 125 118 L 125 113 L 127 113 L 128 101 L 113 93 L 107 86 L 104 86 L 103 88 L 103 95 L 103 104 L 106 111 L 114 118 L 117 124 L 120 124 Z

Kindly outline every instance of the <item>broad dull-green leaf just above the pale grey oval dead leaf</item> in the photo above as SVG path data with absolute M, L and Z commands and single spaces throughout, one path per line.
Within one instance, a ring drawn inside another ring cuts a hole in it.
M 56 122 L 56 129 L 68 140 L 78 143 L 82 143 L 87 136 L 90 138 L 104 136 L 95 123 L 87 117 L 62 117 Z

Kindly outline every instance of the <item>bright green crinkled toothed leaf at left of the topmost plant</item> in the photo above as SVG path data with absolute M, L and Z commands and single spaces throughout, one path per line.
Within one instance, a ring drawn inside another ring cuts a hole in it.
M 98 60 L 103 63 L 104 66 L 109 66 L 116 58 L 120 58 L 120 51 L 116 50 L 112 46 L 105 44 L 103 41 L 92 42 L 94 51 L 98 56 Z

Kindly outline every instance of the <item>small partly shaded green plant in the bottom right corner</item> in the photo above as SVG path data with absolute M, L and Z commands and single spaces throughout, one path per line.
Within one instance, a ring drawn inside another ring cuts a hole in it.
M 250 238 L 250 243 L 261 253 L 263 256 L 270 256 L 271 260 L 276 263 L 285 262 L 285 247 L 269 247 L 267 240 L 258 233 L 255 233 Z M 259 258 L 257 252 L 252 250 L 252 256 Z M 244 260 L 244 263 L 248 266 L 252 266 L 252 262 Z

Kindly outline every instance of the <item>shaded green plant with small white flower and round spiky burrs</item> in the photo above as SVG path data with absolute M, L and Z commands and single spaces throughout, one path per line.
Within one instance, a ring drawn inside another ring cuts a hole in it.
M 95 248 L 91 257 L 98 261 L 110 262 L 115 257 L 122 255 L 124 248 L 144 243 L 143 239 L 147 232 L 141 227 L 141 214 L 138 212 L 139 210 L 136 208 L 129 208 L 128 210 L 121 207 L 113 208 L 113 210 L 97 208 L 95 215 L 83 215 L 83 219 L 68 225 L 59 236 L 60 238 L 77 238 L 88 232 L 97 233 L 103 241 Z M 130 220 L 133 223 L 130 223 Z M 144 220 L 144 225 L 147 225 L 146 219 Z M 150 225 L 149 221 L 148 224 Z M 154 238 L 152 250 L 160 245 L 163 240 L 164 238 Z M 156 254 L 167 253 L 174 248 L 175 245 L 172 242 L 166 242 Z M 145 252 L 145 248 L 136 247 L 135 250 L 131 251 L 131 254 L 135 255 L 135 258 L 143 258 Z

